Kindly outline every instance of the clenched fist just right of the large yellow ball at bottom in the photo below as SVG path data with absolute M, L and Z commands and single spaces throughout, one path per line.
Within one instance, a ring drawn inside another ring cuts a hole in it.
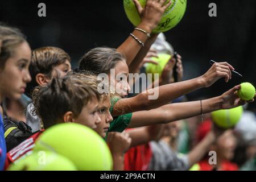
M 131 145 L 131 138 L 128 133 L 110 132 L 107 143 L 112 155 L 123 155 Z

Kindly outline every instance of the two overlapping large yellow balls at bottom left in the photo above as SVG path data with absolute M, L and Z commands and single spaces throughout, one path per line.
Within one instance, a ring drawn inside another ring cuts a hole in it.
M 77 123 L 50 127 L 36 140 L 31 155 L 18 159 L 11 171 L 108 171 L 109 147 L 95 131 Z

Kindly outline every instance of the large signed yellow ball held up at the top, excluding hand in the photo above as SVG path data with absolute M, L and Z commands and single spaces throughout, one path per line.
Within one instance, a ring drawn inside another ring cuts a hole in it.
M 142 7 L 146 5 L 146 0 L 138 0 Z M 167 0 L 169 2 L 170 0 Z M 166 4 L 165 3 L 165 4 Z M 123 6 L 125 8 L 125 13 L 127 18 L 133 23 L 134 26 L 138 26 L 141 23 L 141 17 L 138 14 L 136 6 L 133 0 L 123 0 Z M 187 0 L 172 0 L 170 7 L 164 11 L 162 19 L 160 20 L 158 26 L 152 31 L 153 33 L 166 32 L 171 28 L 174 28 L 185 14 L 187 6 Z

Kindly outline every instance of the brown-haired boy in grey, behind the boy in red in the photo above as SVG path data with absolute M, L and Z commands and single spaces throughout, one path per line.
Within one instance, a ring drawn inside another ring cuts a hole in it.
M 63 49 L 57 47 L 40 47 L 32 51 L 30 64 L 31 82 L 26 89 L 27 96 L 31 97 L 36 86 L 46 85 L 57 74 L 60 77 L 67 75 L 71 71 L 71 58 Z M 32 128 L 32 132 L 40 130 L 40 119 L 32 114 L 34 106 L 27 106 L 27 125 Z

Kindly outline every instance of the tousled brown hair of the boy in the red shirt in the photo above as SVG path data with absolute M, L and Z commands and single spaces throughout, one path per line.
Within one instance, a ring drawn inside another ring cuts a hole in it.
M 104 94 L 97 90 L 99 83 L 96 76 L 81 73 L 53 78 L 49 84 L 34 90 L 34 113 L 42 119 L 45 129 L 63 121 L 67 111 L 72 111 L 74 117 L 78 117 L 82 107 L 94 98 L 101 101 Z

